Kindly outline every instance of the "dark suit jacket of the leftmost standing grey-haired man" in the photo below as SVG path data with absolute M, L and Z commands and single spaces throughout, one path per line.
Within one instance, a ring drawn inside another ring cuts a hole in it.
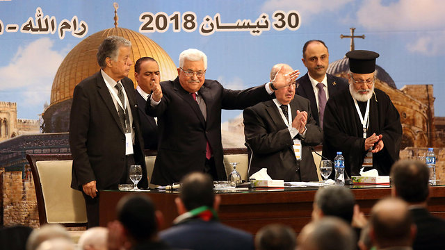
M 133 82 L 130 78 L 123 78 L 122 85 L 133 115 L 135 162 L 143 166 L 143 178 L 138 186 L 147 188 L 147 169 Z M 73 158 L 71 188 L 82 190 L 82 185 L 90 181 L 96 181 L 97 190 L 119 184 L 125 167 L 125 134 L 101 72 L 84 79 L 74 88 L 70 148 Z

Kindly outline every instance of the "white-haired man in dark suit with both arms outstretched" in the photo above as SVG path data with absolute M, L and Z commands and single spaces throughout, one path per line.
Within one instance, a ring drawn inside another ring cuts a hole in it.
M 227 90 L 205 79 L 207 56 L 197 49 L 179 55 L 178 77 L 154 85 L 145 111 L 158 117 L 159 145 L 152 183 L 170 185 L 190 172 L 226 180 L 221 143 L 221 109 L 244 109 L 270 99 L 273 89 L 294 81 L 298 71 L 246 90 Z M 161 86 L 161 87 L 159 87 Z

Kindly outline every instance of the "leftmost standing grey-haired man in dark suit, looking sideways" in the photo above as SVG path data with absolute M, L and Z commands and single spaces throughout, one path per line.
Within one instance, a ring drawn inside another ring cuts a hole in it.
M 99 225 L 99 192 L 131 183 L 130 165 L 142 165 L 138 183 L 147 188 L 147 171 L 140 135 L 133 82 L 131 42 L 105 38 L 97 51 L 101 70 L 74 88 L 70 114 L 72 153 L 71 188 L 81 190 L 86 202 L 88 228 Z

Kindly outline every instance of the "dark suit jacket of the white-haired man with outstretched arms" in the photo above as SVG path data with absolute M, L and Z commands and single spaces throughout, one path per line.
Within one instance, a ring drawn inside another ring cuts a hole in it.
M 226 90 L 214 80 L 205 80 L 198 94 L 207 106 L 207 122 L 199 105 L 179 83 L 161 83 L 163 97 L 157 106 L 147 100 L 145 111 L 158 117 L 159 147 L 152 183 L 170 185 L 190 172 L 202 172 L 209 141 L 215 159 L 218 180 L 226 180 L 221 143 L 221 109 L 244 109 L 270 99 L 264 85 L 247 90 Z

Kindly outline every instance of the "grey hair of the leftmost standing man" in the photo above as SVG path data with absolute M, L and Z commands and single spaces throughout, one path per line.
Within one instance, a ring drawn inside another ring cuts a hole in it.
M 131 42 L 125 38 L 117 35 L 110 35 L 105 38 L 102 44 L 99 45 L 97 49 L 97 63 L 104 69 L 106 67 L 106 58 L 111 58 L 111 60 L 118 60 L 119 48 L 120 47 L 131 47 Z

